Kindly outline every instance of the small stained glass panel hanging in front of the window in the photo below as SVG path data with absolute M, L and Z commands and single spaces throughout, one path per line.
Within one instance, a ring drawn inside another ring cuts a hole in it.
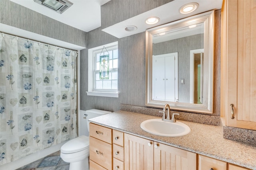
M 100 79 L 109 78 L 109 55 L 100 56 Z

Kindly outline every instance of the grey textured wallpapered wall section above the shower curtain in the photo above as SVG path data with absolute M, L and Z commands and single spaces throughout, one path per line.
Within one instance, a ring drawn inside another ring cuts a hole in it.
M 0 0 L 0 23 L 86 47 L 86 32 L 9 0 Z

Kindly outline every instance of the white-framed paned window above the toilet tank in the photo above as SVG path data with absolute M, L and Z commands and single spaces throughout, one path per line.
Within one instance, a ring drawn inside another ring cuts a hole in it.
M 100 56 L 104 55 L 109 55 L 108 79 L 100 79 Z M 118 97 L 118 42 L 88 50 L 87 95 Z

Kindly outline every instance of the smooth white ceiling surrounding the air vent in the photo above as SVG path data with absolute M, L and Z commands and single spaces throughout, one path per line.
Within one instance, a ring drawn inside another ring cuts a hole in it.
M 89 32 L 101 26 L 100 6 L 110 0 L 69 0 L 73 5 L 62 14 L 37 4 L 34 0 L 10 1 L 82 31 Z

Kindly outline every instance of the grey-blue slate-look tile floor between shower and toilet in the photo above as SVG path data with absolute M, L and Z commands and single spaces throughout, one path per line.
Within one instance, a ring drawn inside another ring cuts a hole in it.
M 69 163 L 60 158 L 60 151 L 50 154 L 42 159 L 22 166 L 17 170 L 68 170 Z

